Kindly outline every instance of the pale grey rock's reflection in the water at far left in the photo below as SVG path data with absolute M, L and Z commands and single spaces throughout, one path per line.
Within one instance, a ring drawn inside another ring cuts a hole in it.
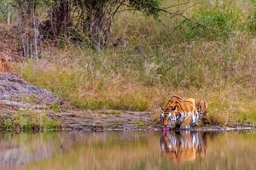
M 40 139 L 40 135 L 36 137 Z M 2 134 L 0 136 L 0 169 L 13 169 L 31 161 L 44 159 L 51 156 L 53 150 L 53 145 L 49 141 L 40 144 L 40 140 L 35 139 L 32 134 L 23 133 L 15 137 L 8 133 Z

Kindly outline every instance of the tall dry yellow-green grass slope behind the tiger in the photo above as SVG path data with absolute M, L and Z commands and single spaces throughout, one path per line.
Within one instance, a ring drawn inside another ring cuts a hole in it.
M 122 39 L 118 47 L 99 54 L 84 44 L 60 42 L 45 47 L 37 62 L 15 64 L 15 71 L 74 108 L 157 112 L 178 94 L 206 100 L 211 122 L 256 123 L 253 4 L 200 3 L 184 13 L 194 21 L 128 11 L 113 26 L 114 37 Z

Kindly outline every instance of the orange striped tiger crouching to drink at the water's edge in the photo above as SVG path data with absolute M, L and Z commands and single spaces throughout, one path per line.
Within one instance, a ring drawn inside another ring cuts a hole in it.
M 180 126 L 181 129 L 188 129 L 190 125 L 196 125 L 199 119 L 199 112 L 196 109 L 195 99 L 185 99 L 173 95 L 168 100 L 160 113 L 160 120 L 164 127 Z

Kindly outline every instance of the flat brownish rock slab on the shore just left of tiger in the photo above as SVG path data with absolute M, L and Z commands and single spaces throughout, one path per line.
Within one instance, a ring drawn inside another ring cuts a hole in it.
M 108 112 L 108 115 L 105 114 Z M 49 117 L 61 121 L 62 130 L 113 131 L 156 130 L 149 111 L 72 111 L 71 113 L 49 113 Z M 113 115 L 109 114 L 113 113 Z M 97 114 L 97 116 L 95 116 Z

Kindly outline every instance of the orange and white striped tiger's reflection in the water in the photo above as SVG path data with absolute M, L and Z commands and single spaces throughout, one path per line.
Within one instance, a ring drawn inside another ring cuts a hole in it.
M 174 163 L 195 161 L 196 156 L 207 155 L 207 137 L 205 133 L 171 132 L 160 137 L 162 155 Z

